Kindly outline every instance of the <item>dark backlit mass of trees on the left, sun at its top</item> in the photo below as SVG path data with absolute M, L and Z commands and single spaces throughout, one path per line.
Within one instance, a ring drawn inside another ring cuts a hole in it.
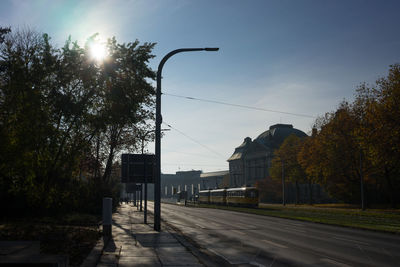
M 137 147 L 135 129 L 153 119 L 154 44 L 112 38 L 98 62 L 95 38 L 57 49 L 47 34 L 0 29 L 2 204 L 63 212 L 117 192 L 115 155 Z

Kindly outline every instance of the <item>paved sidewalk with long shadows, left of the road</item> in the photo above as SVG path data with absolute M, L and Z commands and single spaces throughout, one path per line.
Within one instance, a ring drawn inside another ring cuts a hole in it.
M 113 214 L 112 239 L 97 266 L 203 266 L 171 233 L 153 230 L 153 217 L 121 204 Z

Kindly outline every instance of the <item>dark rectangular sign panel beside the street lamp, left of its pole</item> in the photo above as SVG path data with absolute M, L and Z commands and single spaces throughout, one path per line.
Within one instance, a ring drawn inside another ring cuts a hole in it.
M 122 183 L 154 183 L 154 155 L 122 154 L 121 163 Z

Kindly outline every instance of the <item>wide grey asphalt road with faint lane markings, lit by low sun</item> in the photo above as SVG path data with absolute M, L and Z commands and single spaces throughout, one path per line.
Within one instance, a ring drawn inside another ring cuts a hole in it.
M 232 265 L 400 266 L 393 234 L 171 204 L 161 217 Z

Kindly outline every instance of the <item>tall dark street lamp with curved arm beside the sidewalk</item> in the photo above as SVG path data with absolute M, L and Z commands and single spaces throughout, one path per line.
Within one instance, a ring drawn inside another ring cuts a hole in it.
M 169 52 L 161 59 L 157 70 L 156 91 L 156 176 L 154 179 L 154 230 L 161 230 L 161 73 L 165 62 L 175 54 L 194 51 L 218 51 L 219 48 L 180 48 Z

